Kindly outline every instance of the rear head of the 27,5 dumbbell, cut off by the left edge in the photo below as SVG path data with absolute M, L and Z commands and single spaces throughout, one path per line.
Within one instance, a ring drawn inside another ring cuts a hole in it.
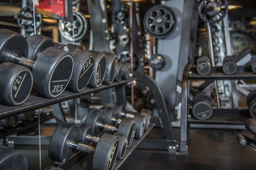
M 0 29 L 0 64 L 10 62 L 13 53 L 21 57 L 27 57 L 28 54 L 27 39 L 16 32 Z

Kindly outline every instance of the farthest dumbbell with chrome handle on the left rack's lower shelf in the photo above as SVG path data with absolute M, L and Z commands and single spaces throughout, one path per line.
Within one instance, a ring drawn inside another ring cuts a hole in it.
M 117 118 L 118 119 L 121 119 L 123 117 L 133 119 L 136 122 L 136 126 L 137 126 L 137 123 L 140 124 L 140 126 L 143 126 L 143 124 L 144 124 L 144 131 L 148 131 L 149 124 L 150 124 L 151 117 L 152 117 L 152 112 L 150 110 L 148 110 L 148 109 L 141 109 L 140 114 L 137 114 L 137 113 L 125 113 L 125 105 L 124 105 L 124 103 L 119 103 L 119 102 L 116 102 L 113 107 L 117 110 L 117 115 L 118 115 Z M 144 116 L 146 118 L 146 122 L 145 123 L 144 123 L 144 118 L 141 117 L 141 116 Z M 143 119 L 143 121 L 141 121 L 142 119 Z M 141 128 L 137 128 L 137 129 L 141 129 Z

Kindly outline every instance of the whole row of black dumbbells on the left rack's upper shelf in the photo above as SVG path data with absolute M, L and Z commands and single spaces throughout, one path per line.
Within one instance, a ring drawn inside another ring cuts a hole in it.
M 0 29 L 0 103 L 20 105 L 31 90 L 55 98 L 65 89 L 82 92 L 128 78 L 129 63 L 118 63 L 114 53 L 85 51 L 72 44 L 65 51 L 59 45 L 43 35 L 26 39 Z

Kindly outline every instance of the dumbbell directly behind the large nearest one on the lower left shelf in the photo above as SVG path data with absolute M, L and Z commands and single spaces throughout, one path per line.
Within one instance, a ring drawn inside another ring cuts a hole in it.
M 101 139 L 97 136 L 92 136 L 92 128 L 91 126 L 85 124 L 77 125 L 79 129 L 79 142 L 83 144 L 89 144 L 90 142 L 98 143 Z M 119 148 L 117 153 L 117 159 L 122 159 L 124 154 L 126 153 L 128 138 L 125 135 L 121 135 L 119 133 L 114 133 L 113 135 L 117 136 L 119 139 Z

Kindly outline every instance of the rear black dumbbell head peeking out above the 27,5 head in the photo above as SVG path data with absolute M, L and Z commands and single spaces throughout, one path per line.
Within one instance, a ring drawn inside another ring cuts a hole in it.
M 36 61 L 41 52 L 48 47 L 54 46 L 54 42 L 51 38 L 44 35 L 34 34 L 27 38 L 29 44 L 28 59 Z

